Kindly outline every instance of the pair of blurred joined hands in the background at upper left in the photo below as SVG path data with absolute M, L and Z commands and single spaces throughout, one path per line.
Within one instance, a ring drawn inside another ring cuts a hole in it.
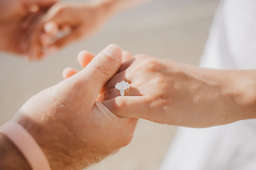
M 100 29 L 111 16 L 149 0 L 0 1 L 0 50 L 40 59 Z M 56 3 L 58 2 L 58 3 Z

